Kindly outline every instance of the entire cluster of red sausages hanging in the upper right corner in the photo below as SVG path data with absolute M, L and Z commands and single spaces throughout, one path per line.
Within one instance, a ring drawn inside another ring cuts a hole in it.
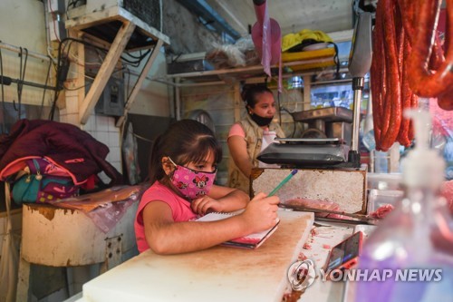
M 439 36 L 435 34 L 440 4 L 441 0 L 378 2 L 371 61 L 371 100 L 378 151 L 388 151 L 395 141 L 410 145 L 413 129 L 402 112 L 418 107 L 418 95 L 438 97 L 441 108 L 453 110 L 453 43 L 447 44 L 444 58 Z M 453 26 L 453 0 L 447 0 L 447 13 L 448 28 Z

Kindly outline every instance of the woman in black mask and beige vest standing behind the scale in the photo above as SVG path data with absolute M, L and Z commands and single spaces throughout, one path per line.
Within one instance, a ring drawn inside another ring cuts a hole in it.
M 250 174 L 253 168 L 279 167 L 258 161 L 256 157 L 285 134 L 276 122 L 274 94 L 265 85 L 245 87 L 242 98 L 246 102 L 246 118 L 236 122 L 228 133 L 228 186 L 250 193 Z

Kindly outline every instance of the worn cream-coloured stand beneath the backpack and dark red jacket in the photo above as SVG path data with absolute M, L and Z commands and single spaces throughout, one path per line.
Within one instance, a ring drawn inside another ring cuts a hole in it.
M 75 267 L 102 263 L 101 273 L 120 264 L 136 247 L 135 213 L 139 200 L 104 233 L 81 210 L 24 204 L 17 302 L 29 300 L 30 264 Z

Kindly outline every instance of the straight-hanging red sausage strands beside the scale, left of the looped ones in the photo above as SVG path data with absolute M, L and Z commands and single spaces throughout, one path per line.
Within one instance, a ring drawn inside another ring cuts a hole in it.
M 373 30 L 371 101 L 374 138 L 379 151 L 388 151 L 394 141 L 399 140 L 404 144 L 409 141 L 409 124 L 406 127 L 404 123 L 401 128 L 401 97 L 408 94 L 402 89 L 401 80 L 405 81 L 405 77 L 400 68 L 403 65 L 406 34 L 395 3 L 396 0 L 379 1 Z M 404 103 L 407 106 L 408 102 Z

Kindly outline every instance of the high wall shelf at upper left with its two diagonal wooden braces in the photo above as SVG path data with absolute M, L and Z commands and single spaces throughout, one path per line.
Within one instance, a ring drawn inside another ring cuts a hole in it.
M 144 23 L 140 18 L 130 14 L 119 5 L 90 14 L 84 14 L 85 11 L 86 7 L 82 6 L 76 17 L 66 21 L 66 27 L 72 33 L 75 33 L 74 35 L 88 34 L 103 40 L 110 44 L 110 49 L 94 78 L 89 92 L 85 95 L 83 90 L 80 91 L 82 93 L 79 98 L 79 119 L 81 124 L 85 124 L 92 114 L 96 102 L 111 78 L 111 73 L 120 60 L 120 55 L 125 51 L 152 48 L 147 62 L 144 63 L 141 69 L 138 80 L 130 92 L 128 100 L 125 102 L 124 113 L 117 121 L 117 126 L 120 126 L 130 111 L 152 63 L 154 63 L 159 54 L 160 47 L 163 44 L 169 44 L 169 37 L 149 26 L 149 24 Z M 84 74 L 84 71 L 81 71 L 80 74 Z M 84 81 L 82 78 L 79 80 L 80 82 Z

